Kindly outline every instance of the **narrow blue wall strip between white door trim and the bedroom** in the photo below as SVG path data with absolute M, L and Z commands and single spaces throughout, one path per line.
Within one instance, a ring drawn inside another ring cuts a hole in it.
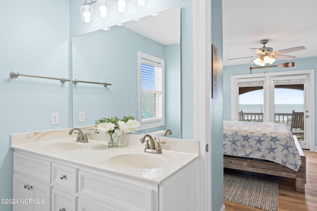
M 223 205 L 222 0 L 211 1 L 211 43 L 218 51 L 218 92 L 217 98 L 211 99 L 211 194 L 212 210 L 220 211 Z

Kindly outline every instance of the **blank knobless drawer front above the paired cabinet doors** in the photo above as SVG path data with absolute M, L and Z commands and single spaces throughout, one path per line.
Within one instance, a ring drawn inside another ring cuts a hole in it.
M 13 169 L 30 178 L 51 182 L 51 162 L 43 158 L 14 152 Z

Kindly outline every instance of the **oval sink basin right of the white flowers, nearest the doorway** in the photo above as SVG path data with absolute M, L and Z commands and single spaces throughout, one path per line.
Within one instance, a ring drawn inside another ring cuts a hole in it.
M 121 168 L 129 169 L 157 169 L 179 162 L 171 154 L 152 154 L 142 149 L 118 150 L 101 156 L 101 161 Z

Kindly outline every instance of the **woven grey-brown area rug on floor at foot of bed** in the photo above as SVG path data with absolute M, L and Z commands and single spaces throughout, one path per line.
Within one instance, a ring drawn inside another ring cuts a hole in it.
M 278 211 L 278 184 L 224 174 L 223 199 L 265 211 Z

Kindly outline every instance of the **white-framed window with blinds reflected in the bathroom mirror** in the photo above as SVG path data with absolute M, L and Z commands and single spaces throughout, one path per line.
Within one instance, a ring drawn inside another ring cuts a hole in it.
M 164 125 L 164 60 L 139 52 L 141 129 Z

